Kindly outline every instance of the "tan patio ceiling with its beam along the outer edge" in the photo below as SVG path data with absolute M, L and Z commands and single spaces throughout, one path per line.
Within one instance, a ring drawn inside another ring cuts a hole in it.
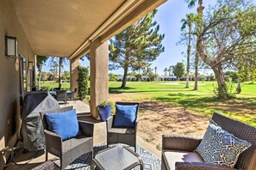
M 165 0 L 9 0 L 37 55 L 77 58 Z

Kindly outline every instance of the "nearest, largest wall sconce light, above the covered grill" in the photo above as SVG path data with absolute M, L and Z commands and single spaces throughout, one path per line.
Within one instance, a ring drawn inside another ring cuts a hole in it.
M 5 36 L 5 55 L 9 58 L 18 57 L 18 41 L 16 37 Z

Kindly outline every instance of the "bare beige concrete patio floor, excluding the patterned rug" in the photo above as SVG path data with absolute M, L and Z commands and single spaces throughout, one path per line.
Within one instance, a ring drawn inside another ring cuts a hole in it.
M 94 138 L 93 138 L 93 144 L 96 146 L 97 144 L 100 143 L 106 143 L 106 124 L 105 122 L 101 122 L 100 119 L 95 119 L 91 117 L 90 114 L 90 106 L 86 105 L 83 101 L 77 100 L 76 102 L 69 101 L 67 105 L 59 105 L 60 107 L 63 106 L 74 106 L 74 108 L 78 112 L 78 119 L 79 120 L 84 120 L 87 122 L 94 123 Z M 161 157 L 161 153 L 159 150 L 153 146 L 153 144 L 147 143 L 144 141 L 141 137 L 137 137 L 137 143 L 140 144 L 141 147 L 144 149 L 147 149 L 149 152 L 151 152 L 153 155 L 156 155 L 157 157 Z M 32 161 L 32 158 L 34 158 Z M 49 159 L 54 159 L 56 158 L 54 155 L 49 155 Z M 6 170 L 28 170 L 32 169 L 33 167 L 36 167 L 43 163 L 46 160 L 45 158 L 45 152 L 44 150 L 41 151 L 34 151 L 34 152 L 29 152 L 29 153 L 22 153 L 22 149 L 20 149 L 16 155 L 15 155 L 15 161 L 19 164 L 24 164 L 25 162 L 29 161 L 28 164 L 26 165 L 21 165 L 17 166 L 13 162 L 9 162 L 9 164 L 4 168 Z

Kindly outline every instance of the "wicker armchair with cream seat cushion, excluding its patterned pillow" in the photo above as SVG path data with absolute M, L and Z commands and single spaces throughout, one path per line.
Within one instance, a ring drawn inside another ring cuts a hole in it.
M 256 168 L 256 128 L 232 118 L 225 117 L 217 112 L 214 113 L 212 119 L 216 124 L 222 126 L 223 130 L 253 144 L 249 149 L 240 154 L 235 168 L 254 170 Z M 234 169 L 204 163 L 202 158 L 197 155 L 197 153 L 193 152 L 194 149 L 197 149 L 199 143 L 201 143 L 201 139 L 195 137 L 164 135 L 162 138 L 162 169 Z M 184 162 L 180 160 L 176 162 L 178 156 L 173 157 L 173 155 L 182 155 L 180 158 L 182 158 Z M 190 159 L 190 162 L 186 161 L 186 159 Z M 194 161 L 191 161 L 191 159 Z

